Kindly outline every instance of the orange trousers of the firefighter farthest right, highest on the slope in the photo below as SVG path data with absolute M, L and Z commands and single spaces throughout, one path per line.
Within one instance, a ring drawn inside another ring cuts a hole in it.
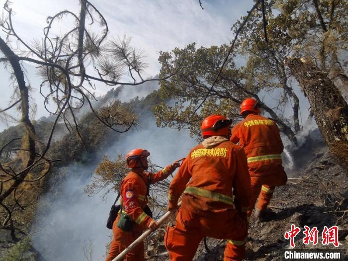
M 251 176 L 250 183 L 252 188 L 252 197 L 248 209 L 248 219 L 252 215 L 255 203 L 258 200 L 256 208 L 260 211 L 265 210 L 273 196 L 276 186 L 285 185 L 287 176 L 285 172 L 278 175 Z

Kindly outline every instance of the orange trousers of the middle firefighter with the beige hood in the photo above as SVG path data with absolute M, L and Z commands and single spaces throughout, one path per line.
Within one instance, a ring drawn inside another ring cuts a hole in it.
M 235 210 L 203 217 L 181 207 L 175 226 L 167 228 L 165 246 L 171 261 L 191 261 L 204 237 L 227 239 L 224 261 L 242 260 L 247 233 L 247 220 Z

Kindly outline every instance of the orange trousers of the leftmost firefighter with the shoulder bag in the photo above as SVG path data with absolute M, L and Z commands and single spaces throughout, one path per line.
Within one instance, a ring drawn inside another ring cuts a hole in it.
M 120 215 L 117 216 L 116 220 L 112 225 L 112 242 L 109 250 L 109 255 L 107 255 L 105 261 L 112 261 L 116 258 L 123 250 L 125 250 L 131 243 L 133 243 L 141 234 L 140 232 L 125 232 L 117 227 L 118 219 Z M 144 260 L 144 242 L 141 242 L 134 249 L 132 249 L 125 257 L 126 261 L 143 261 Z

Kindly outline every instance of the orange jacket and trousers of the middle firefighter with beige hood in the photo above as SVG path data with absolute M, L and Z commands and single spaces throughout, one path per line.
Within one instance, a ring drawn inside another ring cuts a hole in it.
M 170 208 L 183 193 L 175 226 L 165 235 L 172 261 L 192 260 L 206 236 L 227 239 L 224 260 L 243 259 L 250 199 L 247 168 L 244 150 L 221 136 L 209 137 L 189 152 L 169 188 Z

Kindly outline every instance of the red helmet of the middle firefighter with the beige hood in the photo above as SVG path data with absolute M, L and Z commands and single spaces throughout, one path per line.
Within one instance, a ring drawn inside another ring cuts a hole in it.
M 215 114 L 206 117 L 201 126 L 203 139 L 206 136 L 229 136 L 231 124 L 232 120 L 222 115 Z

